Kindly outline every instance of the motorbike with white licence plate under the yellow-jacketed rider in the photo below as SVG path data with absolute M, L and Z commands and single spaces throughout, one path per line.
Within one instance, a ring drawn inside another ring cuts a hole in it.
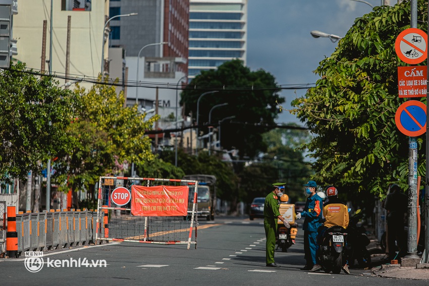
M 319 245 L 319 261 L 326 273 L 341 272 L 346 245 L 346 230 L 341 226 L 332 226 L 321 236 Z

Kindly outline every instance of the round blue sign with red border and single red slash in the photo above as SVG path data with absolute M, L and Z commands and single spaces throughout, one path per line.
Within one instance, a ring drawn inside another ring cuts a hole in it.
M 426 132 L 426 105 L 417 100 L 402 103 L 395 114 L 395 123 L 403 134 L 416 137 Z

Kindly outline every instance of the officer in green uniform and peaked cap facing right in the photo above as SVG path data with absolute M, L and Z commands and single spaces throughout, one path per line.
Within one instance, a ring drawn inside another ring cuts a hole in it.
M 286 183 L 275 183 L 274 191 L 265 197 L 265 204 L 263 207 L 263 227 L 265 228 L 265 262 L 267 267 L 280 267 L 274 262 L 274 250 L 276 248 L 276 234 L 277 234 L 277 219 L 280 219 L 287 228 L 290 224 L 279 212 L 280 203 L 279 199 L 283 195 Z

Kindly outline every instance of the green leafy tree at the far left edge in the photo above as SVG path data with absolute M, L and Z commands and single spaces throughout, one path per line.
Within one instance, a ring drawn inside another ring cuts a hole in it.
M 73 96 L 57 85 L 22 63 L 0 74 L 0 181 L 41 175 L 49 158 L 70 150 Z

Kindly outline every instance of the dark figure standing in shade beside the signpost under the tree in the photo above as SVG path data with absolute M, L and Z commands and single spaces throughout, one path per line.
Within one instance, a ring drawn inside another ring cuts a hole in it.
M 404 233 L 404 214 L 407 212 L 407 206 L 408 198 L 401 192 L 401 188 L 397 184 L 390 186 L 384 208 L 387 210 L 387 248 L 391 260 L 397 256 L 395 241 L 398 245 L 398 258 L 407 254 L 407 242 Z

